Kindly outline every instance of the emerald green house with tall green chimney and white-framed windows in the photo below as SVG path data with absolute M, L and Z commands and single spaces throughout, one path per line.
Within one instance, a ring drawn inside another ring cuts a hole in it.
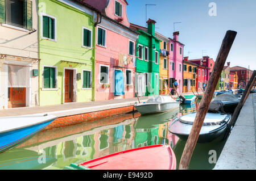
M 147 28 L 130 24 L 140 35 L 136 45 L 136 92 L 138 96 L 159 95 L 160 40 L 155 36 L 155 21 L 147 20 Z M 152 89 L 152 90 L 151 90 Z

